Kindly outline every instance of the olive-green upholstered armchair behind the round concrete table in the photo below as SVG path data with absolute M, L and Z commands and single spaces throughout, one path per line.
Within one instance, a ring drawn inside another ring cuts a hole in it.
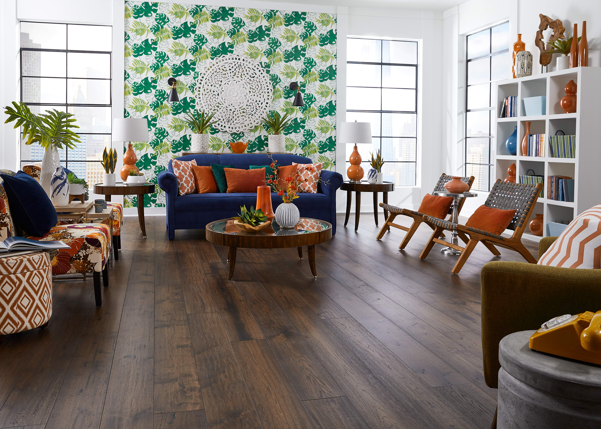
M 543 240 L 541 248 L 554 241 Z M 601 270 L 493 261 L 482 268 L 481 300 L 484 380 L 497 388 L 499 341 L 562 314 L 601 310 Z

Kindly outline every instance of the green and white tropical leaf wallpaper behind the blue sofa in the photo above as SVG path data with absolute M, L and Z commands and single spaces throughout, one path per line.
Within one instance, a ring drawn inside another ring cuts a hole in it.
M 336 16 L 282 10 L 132 2 L 125 4 L 124 115 L 147 118 L 150 142 L 138 142 L 136 165 L 151 183 L 169 159 L 191 147 L 183 121 L 195 109 L 198 73 L 212 59 L 230 53 L 259 61 L 273 85 L 272 111 L 292 112 L 286 132 L 288 151 L 323 162 L 336 159 Z M 167 79 L 174 77 L 180 102 L 168 103 Z M 292 106 L 290 82 L 301 85 L 305 105 Z M 229 151 L 229 141 L 250 141 L 247 151 L 267 150 L 267 132 L 211 130 L 215 151 Z M 126 196 L 126 207 L 136 198 Z M 144 196 L 145 207 L 164 207 L 165 195 Z

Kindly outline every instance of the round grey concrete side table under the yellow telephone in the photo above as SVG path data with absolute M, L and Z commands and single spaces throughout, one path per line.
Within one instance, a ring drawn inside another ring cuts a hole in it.
M 601 367 L 530 350 L 534 332 L 499 344 L 498 429 L 601 427 Z

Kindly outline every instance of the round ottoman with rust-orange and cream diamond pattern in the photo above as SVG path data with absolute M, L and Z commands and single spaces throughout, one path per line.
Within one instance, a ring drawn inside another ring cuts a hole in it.
M 34 329 L 52 315 L 47 252 L 0 258 L 0 334 Z

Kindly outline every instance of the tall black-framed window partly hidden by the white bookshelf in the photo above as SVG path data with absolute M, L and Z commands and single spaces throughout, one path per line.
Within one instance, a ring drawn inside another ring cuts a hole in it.
M 474 176 L 472 189 L 490 190 L 496 118 L 495 81 L 507 78 L 509 23 L 468 35 L 465 93 L 465 174 Z

